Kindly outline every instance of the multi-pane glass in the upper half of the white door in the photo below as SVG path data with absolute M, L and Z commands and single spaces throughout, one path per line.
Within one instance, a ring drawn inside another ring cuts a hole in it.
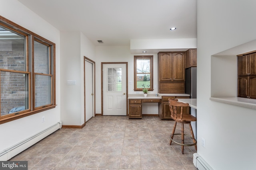
M 108 68 L 108 92 L 122 92 L 122 68 Z

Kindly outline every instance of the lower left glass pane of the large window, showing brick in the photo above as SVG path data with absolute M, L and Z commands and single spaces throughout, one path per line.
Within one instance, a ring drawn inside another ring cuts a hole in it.
M 28 109 L 28 75 L 1 71 L 1 116 Z

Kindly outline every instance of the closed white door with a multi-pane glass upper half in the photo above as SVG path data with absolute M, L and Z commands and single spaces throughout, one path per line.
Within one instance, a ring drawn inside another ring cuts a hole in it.
M 103 64 L 103 115 L 126 115 L 126 64 Z

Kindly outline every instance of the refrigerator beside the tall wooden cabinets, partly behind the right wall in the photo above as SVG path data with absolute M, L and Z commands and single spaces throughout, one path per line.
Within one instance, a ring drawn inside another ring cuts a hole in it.
M 196 67 L 185 70 L 185 93 L 190 94 L 193 99 L 196 98 Z

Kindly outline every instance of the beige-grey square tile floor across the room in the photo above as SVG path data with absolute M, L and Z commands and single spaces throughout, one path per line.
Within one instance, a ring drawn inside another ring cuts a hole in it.
M 173 124 L 152 116 L 96 116 L 83 129 L 59 129 L 11 160 L 27 160 L 29 170 L 196 170 L 194 146 L 182 154 L 180 145 L 169 145 Z M 179 124 L 176 129 L 180 133 Z

